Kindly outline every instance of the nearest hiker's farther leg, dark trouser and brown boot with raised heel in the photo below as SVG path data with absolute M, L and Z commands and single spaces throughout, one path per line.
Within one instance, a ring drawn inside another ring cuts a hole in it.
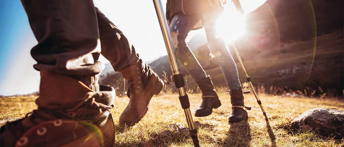
M 139 58 L 122 31 L 98 8 L 96 12 L 101 54 L 110 61 L 114 70 L 120 72 L 129 82 L 129 104 L 120 115 L 119 123 L 133 126 L 146 115 L 150 99 L 162 91 L 164 83 L 150 66 Z

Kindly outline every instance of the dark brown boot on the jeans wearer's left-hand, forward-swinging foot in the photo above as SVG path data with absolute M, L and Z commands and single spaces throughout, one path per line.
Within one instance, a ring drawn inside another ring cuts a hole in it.
M 208 116 L 213 113 L 213 108 L 218 108 L 221 106 L 220 99 L 218 98 L 213 82 L 210 76 L 196 81 L 198 87 L 202 91 L 202 104 L 195 112 L 196 117 Z

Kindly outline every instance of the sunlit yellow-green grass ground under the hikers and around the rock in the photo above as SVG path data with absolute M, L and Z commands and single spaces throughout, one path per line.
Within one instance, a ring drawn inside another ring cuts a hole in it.
M 191 112 L 201 103 L 200 94 L 189 94 Z M 342 141 L 325 140 L 312 133 L 290 134 L 281 126 L 290 122 L 310 108 L 344 109 L 344 104 L 332 99 L 280 98 L 279 96 L 260 95 L 269 117 L 272 129 L 270 139 L 267 124 L 254 95 L 246 95 L 245 103 L 252 106 L 248 111 L 248 122 L 228 125 L 231 105 L 227 93 L 219 94 L 222 106 L 212 115 L 194 118 L 198 137 L 202 146 L 344 146 Z M 35 97 L 12 97 L 0 99 L 0 118 L 24 117 L 25 113 L 36 108 Z M 159 95 L 152 98 L 147 115 L 132 128 L 118 126 L 118 117 L 129 99 L 120 97 L 115 100 L 112 110 L 116 124 L 116 144 L 118 146 L 191 146 L 183 109 L 177 95 Z

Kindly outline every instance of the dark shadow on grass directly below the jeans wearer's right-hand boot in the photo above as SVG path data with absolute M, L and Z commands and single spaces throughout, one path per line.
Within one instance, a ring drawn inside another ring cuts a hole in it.
M 251 138 L 250 125 L 247 120 L 239 123 L 231 123 L 227 137 L 223 141 L 223 146 L 228 147 L 249 147 Z

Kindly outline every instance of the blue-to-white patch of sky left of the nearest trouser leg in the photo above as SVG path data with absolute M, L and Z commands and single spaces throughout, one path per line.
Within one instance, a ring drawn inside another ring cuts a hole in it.
M 1 0 L 0 16 L 0 95 L 37 91 L 39 73 L 32 70 L 35 62 L 29 58 L 37 42 L 21 2 Z

